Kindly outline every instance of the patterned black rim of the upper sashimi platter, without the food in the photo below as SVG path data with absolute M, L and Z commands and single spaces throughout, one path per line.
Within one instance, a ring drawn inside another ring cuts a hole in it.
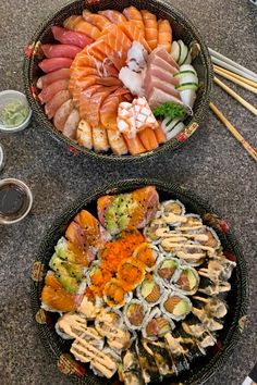
M 148 151 L 137 156 L 115 156 L 112 153 L 97 153 L 93 150 L 88 150 L 75 141 L 69 139 L 60 132 L 58 132 L 53 124 L 47 119 L 42 105 L 37 99 L 37 79 L 42 75 L 38 63 L 38 48 L 40 44 L 49 44 L 53 41 L 51 33 L 51 26 L 62 25 L 63 21 L 72 14 L 82 14 L 82 11 L 87 8 L 93 12 L 105 9 L 113 9 L 122 11 L 128 5 L 135 5 L 139 10 L 147 9 L 155 13 L 159 18 L 167 18 L 171 23 L 173 40 L 182 39 L 187 46 L 195 45 L 197 47 L 198 54 L 193 61 L 193 65 L 197 72 L 199 79 L 199 88 L 197 91 L 197 98 L 193 108 L 193 116 L 186 119 L 184 129 L 176 135 L 176 137 L 170 139 L 164 145 L 158 147 L 152 151 Z M 47 18 L 36 30 L 27 49 L 25 50 L 24 59 L 24 85 L 25 92 L 29 102 L 29 105 L 34 112 L 34 116 L 40 127 L 46 129 L 52 138 L 57 139 L 60 144 L 66 147 L 70 151 L 77 156 L 89 157 L 96 161 L 110 162 L 111 164 L 119 163 L 132 163 L 143 162 L 144 160 L 151 159 L 158 154 L 167 153 L 173 149 L 176 149 L 184 144 L 203 123 L 209 104 L 210 92 L 212 87 L 212 65 L 207 46 L 192 23 L 185 15 L 183 15 L 178 9 L 175 9 L 168 1 L 162 0 L 96 0 L 96 1 L 75 1 L 61 10 L 57 11 L 49 18 Z

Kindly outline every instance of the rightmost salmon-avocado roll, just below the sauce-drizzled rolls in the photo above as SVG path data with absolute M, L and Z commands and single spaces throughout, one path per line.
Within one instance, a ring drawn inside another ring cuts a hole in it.
M 192 266 L 182 266 L 176 281 L 172 284 L 175 290 L 185 295 L 193 295 L 199 286 L 199 275 Z

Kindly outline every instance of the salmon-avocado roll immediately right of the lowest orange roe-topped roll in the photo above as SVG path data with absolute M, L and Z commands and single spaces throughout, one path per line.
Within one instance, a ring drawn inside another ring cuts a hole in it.
M 148 307 L 154 307 L 160 302 L 162 290 L 160 283 L 151 275 L 147 276 L 136 289 L 137 298 L 143 300 Z

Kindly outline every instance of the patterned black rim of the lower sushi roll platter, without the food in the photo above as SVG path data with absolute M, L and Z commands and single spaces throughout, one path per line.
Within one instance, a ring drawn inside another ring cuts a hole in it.
M 70 353 L 70 344 L 56 333 L 54 324 L 58 314 L 41 309 L 40 296 L 44 278 L 49 269 L 48 263 L 54 252 L 54 246 L 78 211 L 86 209 L 96 214 L 96 201 L 99 197 L 106 194 L 127 192 L 147 185 L 156 186 L 160 201 L 179 199 L 185 206 L 187 212 L 200 215 L 204 224 L 217 232 L 227 258 L 236 261 L 236 268 L 233 270 L 230 280 L 231 291 L 229 291 L 227 297 L 229 311 L 224 318 L 223 328 L 218 334 L 216 345 L 208 348 L 207 355 L 204 358 L 199 358 L 182 376 L 172 380 L 163 378 L 162 384 L 203 384 L 216 372 L 222 371 L 222 365 L 230 357 L 243 333 L 248 305 L 247 269 L 238 241 L 235 239 L 228 223 L 208 203 L 192 191 L 175 184 L 144 178 L 117 182 L 97 190 L 85 192 L 62 215 L 54 220 L 41 240 L 32 270 L 32 310 L 38 335 L 53 363 L 62 373 L 70 376 L 71 382 L 100 385 L 106 384 L 107 380 L 94 375 L 88 364 L 75 361 Z M 118 385 L 122 383 L 114 376 L 108 381 L 108 384 Z

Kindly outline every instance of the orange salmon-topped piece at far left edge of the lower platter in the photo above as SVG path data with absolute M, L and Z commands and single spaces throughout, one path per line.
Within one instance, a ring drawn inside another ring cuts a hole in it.
M 53 272 L 48 272 L 41 291 L 41 307 L 47 311 L 74 311 L 82 300 L 76 294 L 69 294 Z

